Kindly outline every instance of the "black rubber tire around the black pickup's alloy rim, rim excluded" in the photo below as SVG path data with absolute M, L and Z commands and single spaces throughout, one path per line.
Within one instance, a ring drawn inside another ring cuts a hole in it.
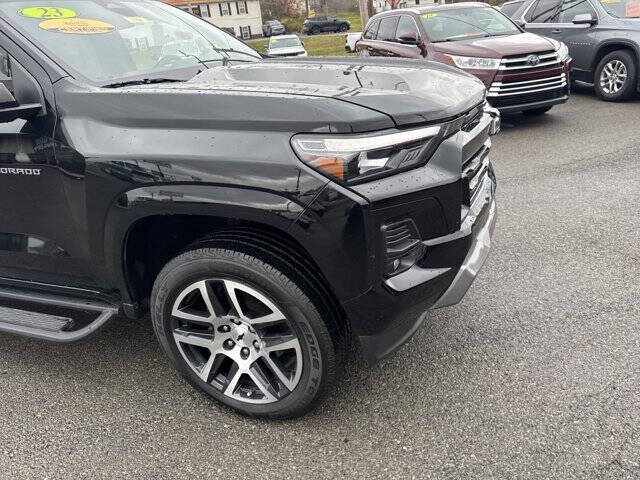
M 193 253 L 193 252 L 190 252 Z M 225 258 L 225 253 L 228 258 Z M 158 340 L 171 363 L 186 379 L 211 397 L 242 413 L 254 416 L 294 416 L 305 410 L 323 393 L 328 377 L 333 376 L 335 352 L 320 315 L 304 294 L 289 283 L 283 285 L 262 269 L 252 268 L 233 252 L 217 252 L 217 258 L 202 257 L 170 262 L 158 276 L 152 294 L 152 320 Z M 231 258 L 229 258 L 231 257 Z M 207 278 L 228 278 L 244 283 L 269 298 L 289 320 L 300 341 L 303 371 L 296 388 L 284 399 L 270 404 L 250 404 L 224 395 L 202 381 L 184 361 L 173 340 L 171 310 L 179 293 L 189 285 Z M 303 298 L 298 298 L 300 295 Z M 292 412 L 288 414 L 287 412 Z

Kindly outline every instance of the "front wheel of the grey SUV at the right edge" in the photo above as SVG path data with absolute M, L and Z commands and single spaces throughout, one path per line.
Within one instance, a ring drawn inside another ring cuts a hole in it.
M 617 102 L 629 98 L 636 86 L 636 63 L 624 50 L 611 52 L 596 68 L 594 87 L 602 100 Z

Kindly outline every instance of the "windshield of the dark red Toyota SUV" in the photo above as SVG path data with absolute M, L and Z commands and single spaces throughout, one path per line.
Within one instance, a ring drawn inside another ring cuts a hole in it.
M 432 42 L 464 40 L 520 33 L 518 27 L 494 8 L 452 8 L 420 15 Z

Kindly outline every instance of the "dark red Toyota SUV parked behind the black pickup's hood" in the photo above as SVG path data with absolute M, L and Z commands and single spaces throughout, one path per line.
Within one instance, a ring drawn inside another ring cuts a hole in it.
M 547 112 L 569 98 L 571 59 L 564 43 L 524 32 L 483 3 L 383 12 L 356 44 L 361 55 L 434 60 L 480 78 L 502 113 Z

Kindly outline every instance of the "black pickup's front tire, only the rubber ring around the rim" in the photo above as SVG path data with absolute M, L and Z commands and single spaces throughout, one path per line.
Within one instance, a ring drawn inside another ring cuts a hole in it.
M 274 419 L 303 415 L 331 390 L 336 367 L 346 356 L 346 330 L 338 327 L 337 318 L 315 297 L 316 292 L 309 292 L 308 285 L 294 280 L 292 267 L 283 263 L 277 253 L 272 255 L 259 247 L 249 253 L 251 249 L 243 248 L 232 237 L 233 234 L 226 239 L 209 240 L 211 248 L 187 251 L 162 269 L 151 295 L 156 336 L 171 363 L 191 384 L 237 412 Z M 302 373 L 295 388 L 283 398 L 266 404 L 236 400 L 203 381 L 180 353 L 173 336 L 174 303 L 188 285 L 211 278 L 242 282 L 262 293 L 285 315 L 287 325 L 299 340 Z

